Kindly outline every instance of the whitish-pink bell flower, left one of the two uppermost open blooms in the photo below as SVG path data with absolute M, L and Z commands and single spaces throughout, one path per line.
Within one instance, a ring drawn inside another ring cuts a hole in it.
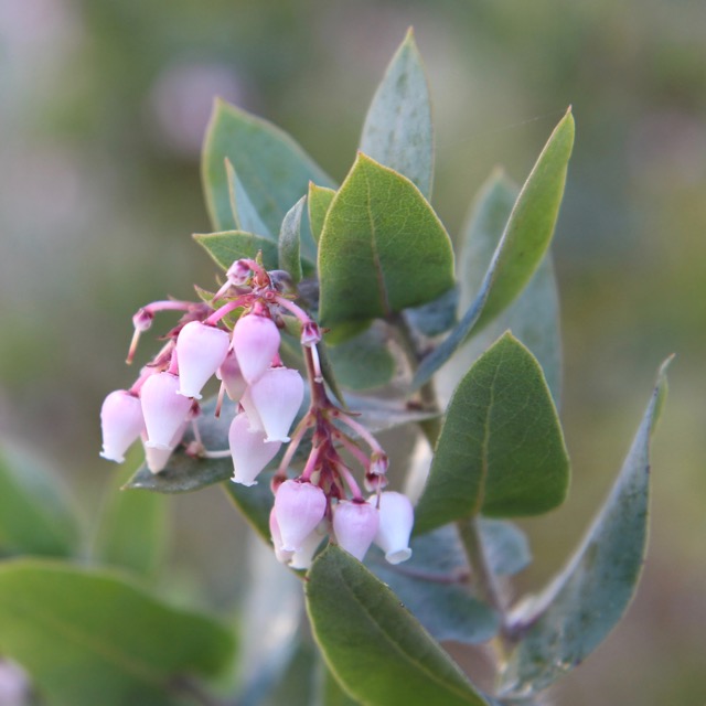
M 218 370 L 231 345 L 226 331 L 190 321 L 176 338 L 179 394 L 201 399 L 201 391 Z

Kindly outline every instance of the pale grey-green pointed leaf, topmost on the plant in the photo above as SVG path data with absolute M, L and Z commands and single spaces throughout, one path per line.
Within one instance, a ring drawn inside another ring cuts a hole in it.
M 434 176 L 431 104 L 411 29 L 375 93 L 360 149 L 407 176 L 429 199 Z

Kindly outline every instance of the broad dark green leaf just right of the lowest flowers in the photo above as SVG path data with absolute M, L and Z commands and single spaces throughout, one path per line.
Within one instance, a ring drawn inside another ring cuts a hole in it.
M 479 513 L 535 515 L 561 503 L 569 461 L 542 368 L 511 333 L 453 393 L 415 511 L 424 533 Z

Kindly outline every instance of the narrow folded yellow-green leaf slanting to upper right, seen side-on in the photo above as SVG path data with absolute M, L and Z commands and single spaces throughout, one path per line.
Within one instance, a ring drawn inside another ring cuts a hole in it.
M 574 118 L 569 110 L 517 196 L 480 291 L 456 329 L 421 362 L 414 388 L 424 385 L 453 355 L 473 328 L 482 328 L 509 307 L 532 278 L 552 242 L 573 146 Z

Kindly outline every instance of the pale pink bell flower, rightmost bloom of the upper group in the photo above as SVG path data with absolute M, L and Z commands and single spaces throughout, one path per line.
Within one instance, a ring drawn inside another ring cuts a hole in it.
M 289 428 L 304 398 L 304 383 L 298 371 L 271 367 L 248 389 L 267 441 L 289 441 Z

